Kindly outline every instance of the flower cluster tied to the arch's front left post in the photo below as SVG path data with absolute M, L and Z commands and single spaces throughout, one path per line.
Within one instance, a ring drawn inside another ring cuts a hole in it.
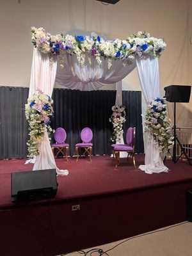
M 34 94 L 33 97 L 29 98 L 28 104 L 25 106 L 30 131 L 30 138 L 27 143 L 28 156 L 31 158 L 39 154 L 40 143 L 44 138 L 45 131 L 48 132 L 49 140 L 51 140 L 50 116 L 53 113 L 52 103 L 51 97 L 38 90 L 38 94 Z

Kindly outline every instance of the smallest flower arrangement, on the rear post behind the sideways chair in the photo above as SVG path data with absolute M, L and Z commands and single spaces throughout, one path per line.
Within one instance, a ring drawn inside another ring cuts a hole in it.
M 109 122 L 113 124 L 113 134 L 111 141 L 120 141 L 122 134 L 124 133 L 123 124 L 125 119 L 125 107 L 122 105 L 115 105 L 112 107 L 113 114 L 109 118 Z

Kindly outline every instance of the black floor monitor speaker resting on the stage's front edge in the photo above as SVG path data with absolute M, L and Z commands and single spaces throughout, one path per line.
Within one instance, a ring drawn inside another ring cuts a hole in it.
M 13 172 L 12 202 L 53 198 L 58 190 L 56 170 Z

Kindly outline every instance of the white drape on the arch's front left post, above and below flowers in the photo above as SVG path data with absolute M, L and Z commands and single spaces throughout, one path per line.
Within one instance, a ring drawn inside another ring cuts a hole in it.
M 38 49 L 34 48 L 29 97 L 36 93 L 37 88 L 47 95 L 52 95 L 56 69 L 56 60 L 50 65 L 49 55 L 43 54 L 38 51 Z M 56 166 L 47 132 L 44 133 L 44 140 L 42 141 L 39 150 L 40 154 L 36 157 L 33 166 L 34 171 L 56 168 L 56 173 L 58 175 L 68 175 L 68 170 L 59 170 Z

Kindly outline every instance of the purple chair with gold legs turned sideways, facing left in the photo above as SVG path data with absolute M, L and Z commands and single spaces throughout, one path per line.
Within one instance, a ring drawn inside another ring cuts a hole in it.
M 115 168 L 118 166 L 120 161 L 120 152 L 127 152 L 127 161 L 129 157 L 132 157 L 132 162 L 136 168 L 134 159 L 134 143 L 135 143 L 135 127 L 129 127 L 126 132 L 126 144 L 113 144 L 113 156 L 115 155 Z

